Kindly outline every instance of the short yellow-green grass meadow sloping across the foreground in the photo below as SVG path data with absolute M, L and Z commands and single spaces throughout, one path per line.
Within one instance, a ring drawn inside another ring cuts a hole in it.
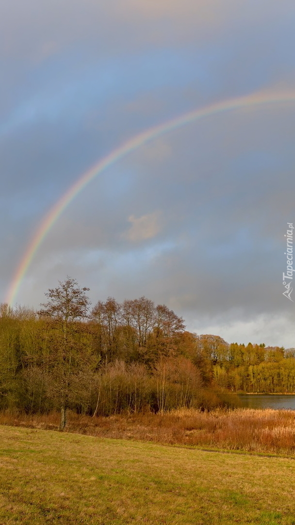
M 295 461 L 0 427 L 0 523 L 295 525 Z

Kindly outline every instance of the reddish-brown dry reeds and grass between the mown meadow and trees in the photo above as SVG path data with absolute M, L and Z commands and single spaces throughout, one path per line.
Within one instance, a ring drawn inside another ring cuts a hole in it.
M 59 415 L 0 414 L 0 424 L 57 430 Z M 295 453 L 295 412 L 272 409 L 178 410 L 167 414 L 111 417 L 69 414 L 67 432 L 171 445 L 226 448 L 260 453 Z

